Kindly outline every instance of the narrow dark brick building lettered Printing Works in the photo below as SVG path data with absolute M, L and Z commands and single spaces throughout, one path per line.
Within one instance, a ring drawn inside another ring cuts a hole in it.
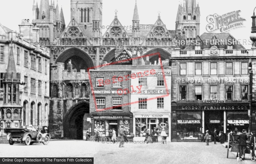
M 128 54 L 130 52 L 124 52 L 131 58 Z M 117 56 L 115 61 L 121 60 L 121 56 L 124 56 L 124 53 Z M 108 65 L 99 70 L 90 70 L 90 116 L 93 134 L 98 128 L 102 136 L 109 136 L 110 129 L 115 129 L 118 135 L 122 125 L 128 135 L 132 133 L 128 91 L 131 83 L 130 80 L 124 80 L 125 76 L 131 75 L 131 70 L 125 70 L 124 67 Z

